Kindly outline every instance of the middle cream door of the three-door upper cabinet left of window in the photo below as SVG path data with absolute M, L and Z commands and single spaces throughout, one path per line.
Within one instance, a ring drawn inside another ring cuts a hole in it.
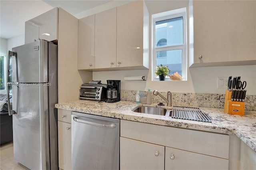
M 116 67 L 116 8 L 95 14 L 95 67 Z

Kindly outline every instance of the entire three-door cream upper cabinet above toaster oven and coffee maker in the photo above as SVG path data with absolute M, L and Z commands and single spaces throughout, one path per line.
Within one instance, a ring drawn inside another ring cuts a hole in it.
M 79 20 L 78 70 L 149 68 L 149 13 L 144 1 L 93 16 Z

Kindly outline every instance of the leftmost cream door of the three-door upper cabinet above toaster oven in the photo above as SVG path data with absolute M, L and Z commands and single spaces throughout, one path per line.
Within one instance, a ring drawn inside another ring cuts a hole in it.
M 78 20 L 78 70 L 94 68 L 95 15 Z

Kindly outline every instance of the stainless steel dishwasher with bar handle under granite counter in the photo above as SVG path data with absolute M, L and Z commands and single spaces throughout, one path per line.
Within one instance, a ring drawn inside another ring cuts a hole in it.
M 71 114 L 72 170 L 118 170 L 120 120 Z

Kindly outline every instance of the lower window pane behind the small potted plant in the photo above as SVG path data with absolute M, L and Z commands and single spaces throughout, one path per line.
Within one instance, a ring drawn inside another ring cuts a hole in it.
M 168 66 L 170 74 L 178 72 L 182 76 L 182 49 L 156 52 L 156 66 Z

